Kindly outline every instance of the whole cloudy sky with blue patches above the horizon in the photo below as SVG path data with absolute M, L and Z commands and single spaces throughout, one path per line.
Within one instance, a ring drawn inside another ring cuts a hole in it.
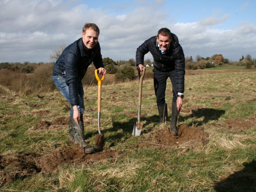
M 0 62 L 49 62 L 52 49 L 80 38 L 88 22 L 100 28 L 102 58 L 115 61 L 135 59 L 163 27 L 194 60 L 256 58 L 255 8 L 255 0 L 0 0 Z

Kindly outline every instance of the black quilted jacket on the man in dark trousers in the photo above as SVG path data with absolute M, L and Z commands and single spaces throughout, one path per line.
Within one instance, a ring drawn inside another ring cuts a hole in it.
M 150 52 L 154 58 L 154 68 L 166 72 L 175 70 L 177 92 L 184 92 L 185 57 L 179 44 L 178 37 L 172 33 L 172 42 L 169 49 L 161 53 L 156 36 L 153 36 L 141 44 L 136 51 L 136 65 L 144 63 L 144 55 Z

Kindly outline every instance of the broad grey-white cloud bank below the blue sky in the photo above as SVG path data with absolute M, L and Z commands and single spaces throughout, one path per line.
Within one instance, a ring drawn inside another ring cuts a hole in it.
M 81 37 L 86 22 L 99 26 L 102 56 L 113 60 L 135 58 L 137 47 L 162 27 L 178 36 L 186 56 L 211 57 L 221 53 L 225 58 L 238 60 L 242 54 L 256 52 L 256 28 L 252 23 L 220 28 L 231 17 L 229 14 L 219 18 L 220 12 L 215 11 L 201 21 L 173 23 L 175 18 L 170 18 L 169 12 L 156 9 L 162 7 L 163 1 L 140 1 L 139 7 L 131 10 L 130 6 L 131 11 L 118 15 L 74 2 L 0 1 L 0 62 L 47 62 L 52 48 Z M 147 58 L 152 60 L 150 54 Z

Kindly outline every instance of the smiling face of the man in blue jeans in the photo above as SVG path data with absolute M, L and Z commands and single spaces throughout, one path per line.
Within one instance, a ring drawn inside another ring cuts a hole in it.
M 82 32 L 82 39 L 86 50 L 92 49 L 97 44 L 98 37 L 99 33 L 91 28 L 87 29 L 85 32 Z

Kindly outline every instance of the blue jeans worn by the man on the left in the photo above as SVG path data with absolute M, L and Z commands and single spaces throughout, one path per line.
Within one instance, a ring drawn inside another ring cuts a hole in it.
M 64 77 L 60 75 L 52 76 L 53 83 L 56 85 L 58 90 L 60 90 L 61 94 L 68 100 L 68 102 L 71 105 L 70 97 L 69 97 L 69 91 L 68 91 L 68 85 L 66 84 L 66 80 Z M 77 106 L 78 111 L 80 112 L 80 115 L 83 116 L 84 113 L 84 88 L 82 81 L 78 82 L 78 101 L 79 105 Z M 73 107 L 70 107 L 70 116 L 73 117 Z

